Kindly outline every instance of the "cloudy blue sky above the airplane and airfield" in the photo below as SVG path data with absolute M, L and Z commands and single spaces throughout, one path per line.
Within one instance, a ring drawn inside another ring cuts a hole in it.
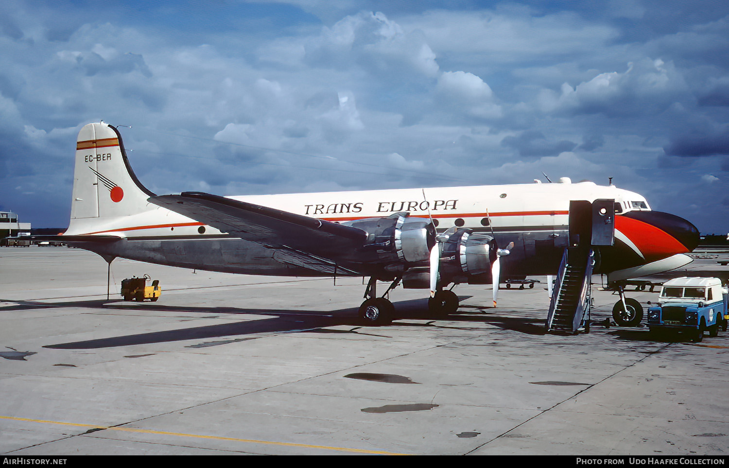
M 729 2 L 1 1 L 0 210 L 68 226 L 100 120 L 157 194 L 612 178 L 726 233 Z

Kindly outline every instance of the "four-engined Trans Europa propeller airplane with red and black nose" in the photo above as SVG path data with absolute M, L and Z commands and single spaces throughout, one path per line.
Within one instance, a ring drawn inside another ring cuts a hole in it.
M 597 247 L 609 282 L 678 268 L 698 245 L 692 223 L 650 209 L 612 184 L 535 183 L 220 197 L 157 195 L 142 185 L 122 136 L 104 122 L 79 131 L 69 228 L 54 240 L 101 255 L 190 269 L 293 277 L 369 277 L 359 317 L 392 320 L 389 292 L 430 290 L 452 314 L 448 286 L 502 275 L 550 275 L 569 242 L 572 200 L 614 201 L 615 242 Z M 390 282 L 378 295 L 377 282 Z M 622 290 L 620 290 L 621 298 Z M 623 298 L 623 304 L 625 300 Z

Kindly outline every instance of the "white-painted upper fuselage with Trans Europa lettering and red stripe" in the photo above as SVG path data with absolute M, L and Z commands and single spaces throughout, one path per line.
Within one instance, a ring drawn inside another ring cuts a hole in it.
M 408 212 L 432 217 L 438 230 L 451 226 L 478 231 L 523 231 L 567 226 L 570 200 L 615 199 L 620 212 L 650 210 L 644 197 L 615 186 L 581 183 L 531 183 L 497 186 L 437 187 L 338 191 L 307 194 L 229 197 L 243 202 L 332 222 L 381 218 Z M 221 234 L 211 226 L 149 203 L 135 215 L 74 219 L 68 235 L 112 234 L 120 237 L 164 237 Z M 200 233 L 200 226 L 204 232 Z

